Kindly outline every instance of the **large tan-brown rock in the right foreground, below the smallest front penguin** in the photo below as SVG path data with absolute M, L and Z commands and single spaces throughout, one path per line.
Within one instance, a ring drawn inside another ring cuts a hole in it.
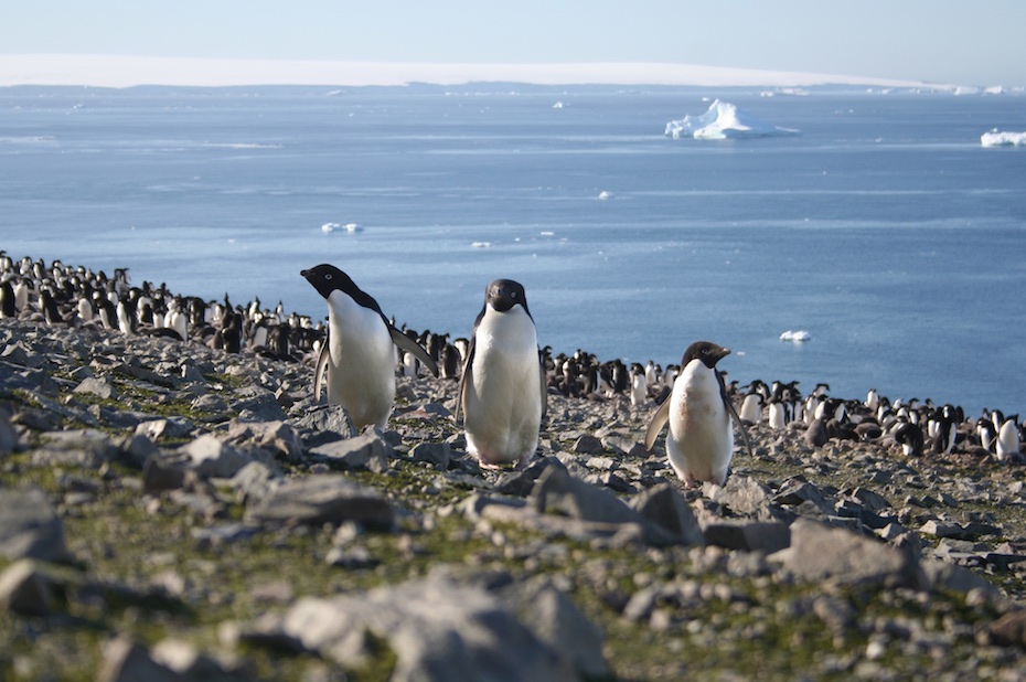
M 774 555 L 805 580 L 881 584 L 926 589 L 928 580 L 910 552 L 877 540 L 799 519 L 791 525 L 791 546 Z

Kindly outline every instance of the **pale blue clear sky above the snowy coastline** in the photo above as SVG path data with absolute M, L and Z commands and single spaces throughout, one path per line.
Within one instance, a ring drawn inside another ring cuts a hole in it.
M 7 0 L 0 56 L 646 62 L 1026 85 L 1023 0 Z

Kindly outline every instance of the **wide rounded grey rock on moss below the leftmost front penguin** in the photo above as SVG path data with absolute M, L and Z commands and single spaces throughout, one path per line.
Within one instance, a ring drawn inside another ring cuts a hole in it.
M 289 480 L 246 509 L 246 520 L 261 524 L 344 523 L 391 530 L 395 513 L 376 490 L 341 475 L 308 476 Z

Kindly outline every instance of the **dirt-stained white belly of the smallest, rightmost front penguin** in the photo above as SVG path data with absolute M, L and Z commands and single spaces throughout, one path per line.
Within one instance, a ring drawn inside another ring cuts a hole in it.
M 734 430 L 719 382 L 712 370 L 692 362 L 677 377 L 670 397 L 670 465 L 685 483 L 723 484 L 734 455 Z

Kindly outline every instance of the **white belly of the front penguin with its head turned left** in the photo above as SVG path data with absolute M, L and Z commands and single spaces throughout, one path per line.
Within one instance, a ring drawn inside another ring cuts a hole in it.
M 395 402 L 395 351 L 385 321 L 341 291 L 328 299 L 328 402 L 357 428 L 385 428 Z

